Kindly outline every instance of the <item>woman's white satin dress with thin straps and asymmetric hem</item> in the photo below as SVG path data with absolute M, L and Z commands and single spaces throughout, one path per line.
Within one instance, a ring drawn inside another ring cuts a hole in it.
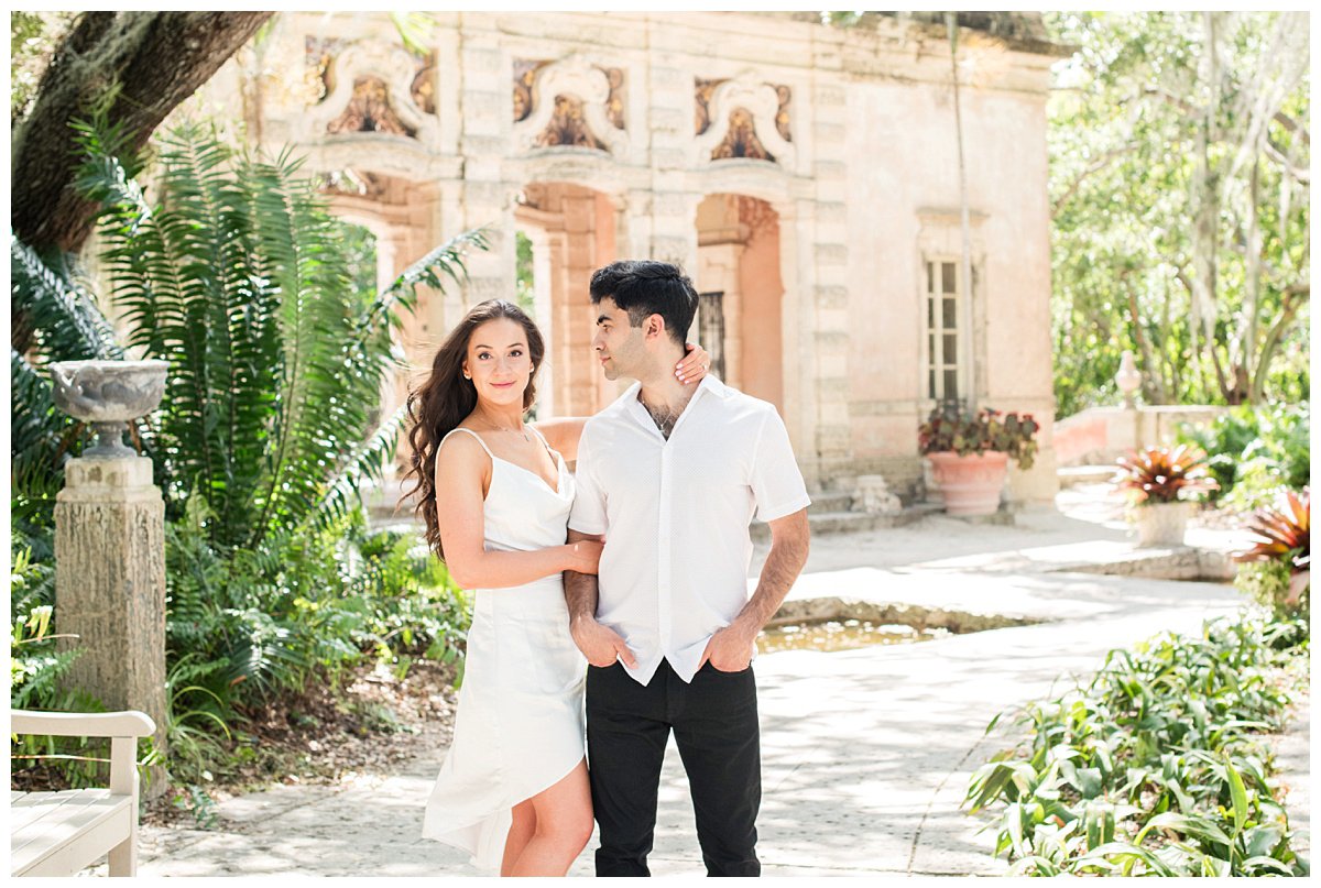
M 476 432 L 454 432 L 477 437 L 491 457 L 486 551 L 561 546 L 573 505 L 564 457 L 555 453 L 552 490 L 535 472 L 491 453 Z M 559 574 L 472 592 L 454 741 L 427 802 L 423 835 L 468 851 L 482 870 L 498 870 L 510 809 L 557 784 L 584 757 L 587 659 L 569 636 Z

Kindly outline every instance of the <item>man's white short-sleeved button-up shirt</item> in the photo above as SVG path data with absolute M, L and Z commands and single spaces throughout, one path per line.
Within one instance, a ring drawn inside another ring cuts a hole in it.
M 664 658 L 691 682 L 748 603 L 753 513 L 811 500 L 773 404 L 705 377 L 666 440 L 641 387 L 587 420 L 569 527 L 605 534 L 596 616 L 637 658 L 629 675 L 646 684 Z

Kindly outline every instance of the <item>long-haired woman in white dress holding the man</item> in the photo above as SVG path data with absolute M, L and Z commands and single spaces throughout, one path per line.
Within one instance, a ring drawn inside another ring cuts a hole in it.
M 423 835 L 502 876 L 568 872 L 592 835 L 584 760 L 585 661 L 561 572 L 596 574 L 601 544 L 565 544 L 583 419 L 523 423 L 544 344 L 513 303 L 474 307 L 408 398 L 427 542 L 473 591 L 454 741 Z M 705 375 L 707 353 L 675 369 Z M 444 509 L 436 492 L 444 490 Z

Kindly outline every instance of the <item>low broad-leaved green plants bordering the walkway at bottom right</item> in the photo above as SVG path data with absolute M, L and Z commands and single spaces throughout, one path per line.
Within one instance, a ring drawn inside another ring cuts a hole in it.
M 995 852 L 1013 875 L 1306 875 L 1258 735 L 1279 727 L 1279 670 L 1308 646 L 1305 624 L 1222 618 L 1112 650 L 1089 686 L 1021 708 L 1028 737 L 974 773 L 964 803 L 1004 802 Z

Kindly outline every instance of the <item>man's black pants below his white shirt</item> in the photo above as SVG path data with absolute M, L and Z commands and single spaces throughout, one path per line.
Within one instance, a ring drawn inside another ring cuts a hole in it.
M 721 673 L 707 663 L 687 684 L 664 659 L 646 687 L 620 663 L 588 666 L 588 765 L 601 827 L 596 875 L 651 875 L 647 854 L 671 728 L 688 772 L 707 873 L 761 875 L 761 741 L 752 667 Z

